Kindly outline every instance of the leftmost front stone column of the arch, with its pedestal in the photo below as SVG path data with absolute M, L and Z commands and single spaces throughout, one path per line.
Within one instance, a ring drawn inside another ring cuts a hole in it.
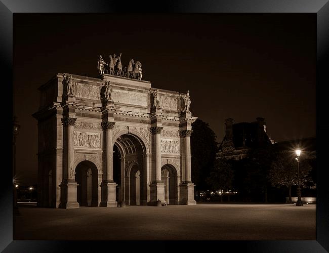
M 72 161 L 74 159 L 73 150 L 73 131 L 76 118 L 66 117 L 62 119 L 64 128 L 66 128 L 66 164 L 63 164 L 63 181 L 61 183 L 61 203 L 60 208 L 78 208 L 79 203 L 76 201 L 76 189 L 77 183 L 74 178 L 74 170 L 72 167 Z

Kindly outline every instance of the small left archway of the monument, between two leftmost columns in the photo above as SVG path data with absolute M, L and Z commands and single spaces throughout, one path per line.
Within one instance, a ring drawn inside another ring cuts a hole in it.
M 98 171 L 88 160 L 81 161 L 75 168 L 75 182 L 78 184 L 76 200 L 80 206 L 98 206 Z

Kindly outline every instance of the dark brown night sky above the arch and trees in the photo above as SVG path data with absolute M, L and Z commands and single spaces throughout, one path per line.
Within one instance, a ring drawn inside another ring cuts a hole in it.
M 133 58 L 152 87 L 186 93 L 221 142 L 224 121 L 264 117 L 276 142 L 316 134 L 316 14 L 14 14 L 17 176 L 36 183 L 37 88 Z

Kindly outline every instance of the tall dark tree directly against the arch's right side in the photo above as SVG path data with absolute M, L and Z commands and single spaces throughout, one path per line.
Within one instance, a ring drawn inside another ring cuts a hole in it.
M 197 192 L 209 188 L 205 179 L 214 167 L 218 143 L 214 131 L 201 119 L 196 119 L 192 123 L 192 131 L 191 176 Z

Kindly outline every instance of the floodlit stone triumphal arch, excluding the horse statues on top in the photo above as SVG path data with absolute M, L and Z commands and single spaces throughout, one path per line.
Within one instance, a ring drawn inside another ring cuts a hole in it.
M 106 73 L 38 90 L 38 206 L 196 204 L 188 92 Z

